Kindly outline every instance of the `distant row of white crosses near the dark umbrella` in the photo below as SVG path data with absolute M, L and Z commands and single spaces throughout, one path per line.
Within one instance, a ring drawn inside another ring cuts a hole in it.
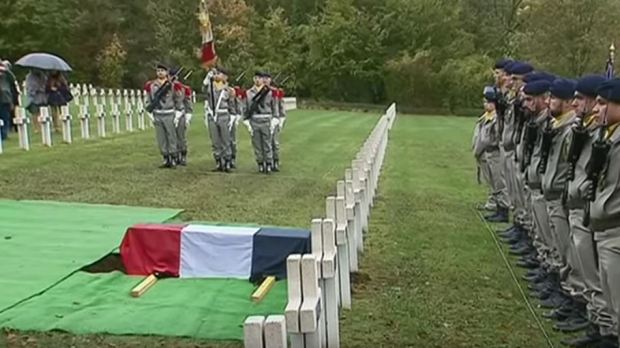
M 24 86 L 25 90 L 25 86 Z M 125 115 L 125 130 L 128 132 L 134 131 L 134 114 L 138 118 L 138 129 L 146 129 L 147 123 L 145 122 L 145 116 L 147 114 L 145 110 L 146 92 L 142 90 L 112 90 L 95 88 L 92 85 L 73 85 L 70 86 L 71 93 L 73 94 L 72 103 L 79 110 L 78 119 L 80 120 L 80 134 L 82 139 L 90 139 L 90 119 L 91 119 L 91 105 L 94 105 L 95 117 L 97 120 L 97 136 L 105 138 L 107 136 L 106 131 L 106 116 L 110 115 L 112 121 L 112 133 L 121 133 L 121 117 Z M 69 105 L 62 106 L 60 108 L 60 121 L 62 122 L 62 141 L 67 144 L 73 142 L 71 135 L 71 121 L 73 116 L 71 115 L 71 108 Z M 28 133 L 28 126 L 30 120 L 26 115 L 26 110 L 19 105 L 16 108 L 16 114 L 14 118 L 14 124 L 17 126 L 19 147 L 24 150 L 30 150 L 30 138 Z M 41 127 L 41 141 L 45 146 L 52 146 L 52 118 L 49 107 L 41 107 L 39 124 Z M 152 124 L 148 123 L 151 127 Z M 0 141 L 0 153 L 2 153 L 2 144 Z

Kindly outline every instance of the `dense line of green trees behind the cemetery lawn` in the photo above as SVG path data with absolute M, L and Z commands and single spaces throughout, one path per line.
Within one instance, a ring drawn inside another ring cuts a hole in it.
M 233 78 L 281 72 L 316 100 L 454 110 L 477 106 L 500 57 L 568 77 L 602 72 L 618 38 L 617 0 L 209 0 Z M 141 87 L 158 61 L 203 72 L 198 0 L 12 0 L 0 4 L 0 56 L 64 57 L 72 81 Z

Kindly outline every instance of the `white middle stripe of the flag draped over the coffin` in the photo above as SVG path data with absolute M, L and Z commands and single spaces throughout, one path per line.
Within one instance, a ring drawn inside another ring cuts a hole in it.
M 181 278 L 241 278 L 252 272 L 259 227 L 188 225 L 181 231 Z

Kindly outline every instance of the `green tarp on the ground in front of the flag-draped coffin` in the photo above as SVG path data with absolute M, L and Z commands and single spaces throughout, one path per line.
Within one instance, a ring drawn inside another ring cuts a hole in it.
M 41 296 L 0 314 L 0 326 L 19 330 L 243 338 L 248 315 L 282 314 L 286 282 L 259 304 L 254 286 L 233 279 L 162 279 L 142 297 L 129 296 L 142 278 L 119 272 L 78 272 Z

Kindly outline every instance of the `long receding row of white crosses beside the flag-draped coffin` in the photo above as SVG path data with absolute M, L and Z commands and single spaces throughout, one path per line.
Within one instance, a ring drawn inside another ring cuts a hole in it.
M 389 130 L 392 104 L 327 197 L 325 218 L 312 220 L 312 253 L 287 259 L 288 304 L 284 317 L 249 317 L 246 348 L 339 348 L 339 313 L 351 309 L 350 273 L 359 270 L 364 235 L 373 207 Z M 286 334 L 288 334 L 288 340 Z

